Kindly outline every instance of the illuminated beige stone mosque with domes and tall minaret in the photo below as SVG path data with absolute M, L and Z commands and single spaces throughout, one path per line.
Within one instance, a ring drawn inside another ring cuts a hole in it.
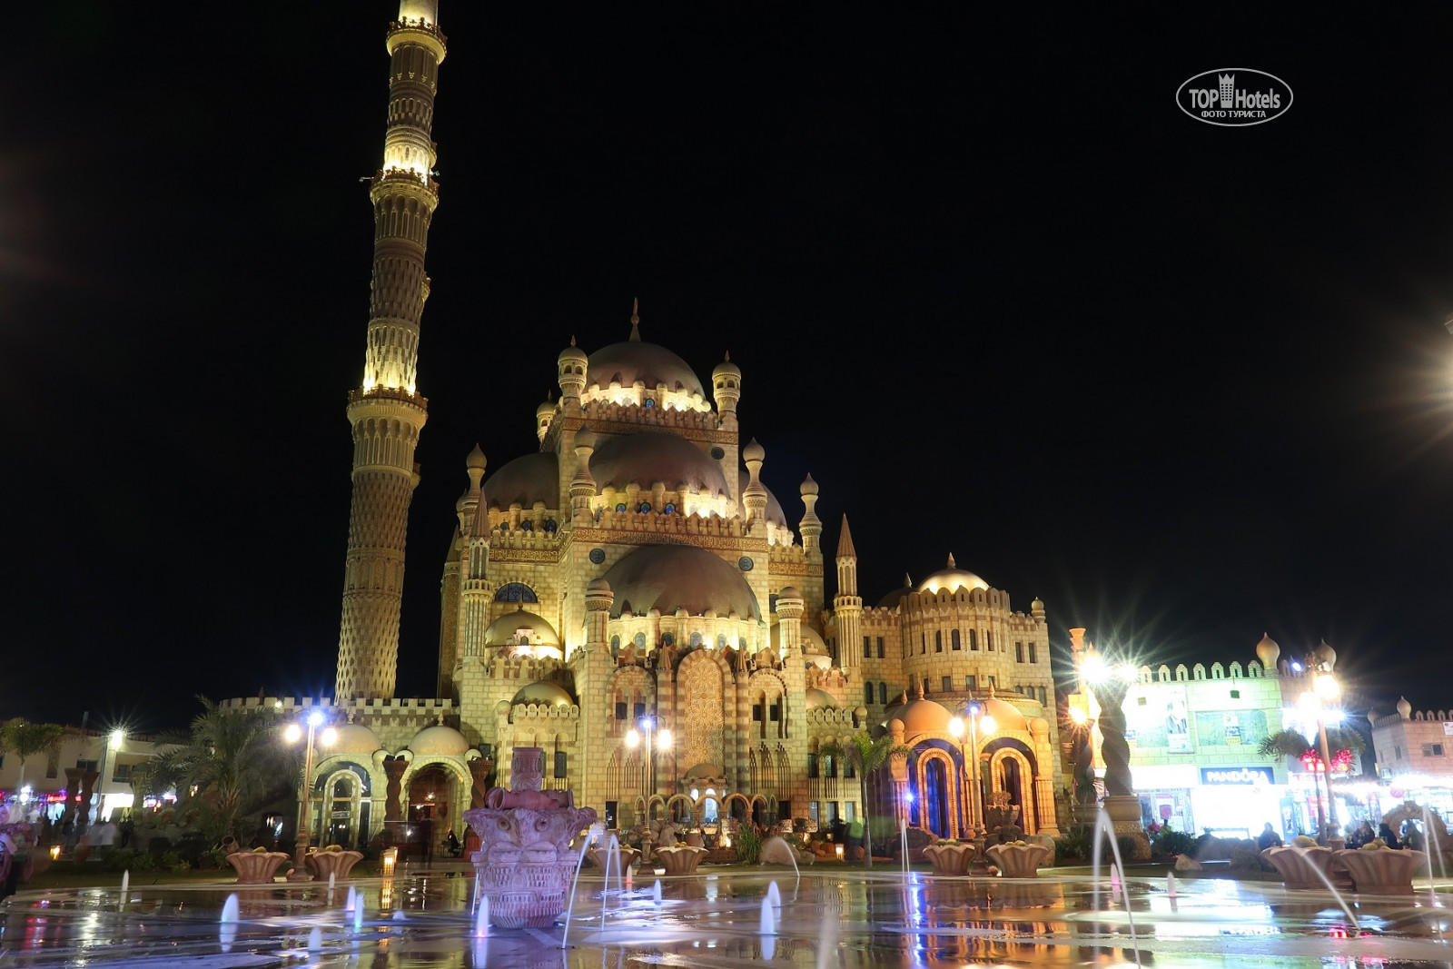
M 949 556 L 865 604 L 846 517 L 830 600 L 818 484 L 798 485 L 790 513 L 769 488 L 767 453 L 738 423 L 750 373 L 722 359 L 702 381 L 642 336 L 635 311 L 620 341 L 587 352 L 571 337 L 539 362 L 559 394 L 535 410 L 536 452 L 491 461 L 475 446 L 452 520 L 423 510 L 452 527 L 437 696 L 394 696 L 413 455 L 427 420 L 416 366 L 445 45 L 437 0 L 402 0 L 371 185 L 365 368 L 347 404 L 337 683 L 321 702 L 337 738 L 308 779 L 312 837 L 356 844 L 397 825 L 404 840 L 424 819 L 434 838 L 462 832 L 485 784 L 509 784 L 514 747 L 543 748 L 546 784 L 619 827 L 667 815 L 851 821 L 860 780 L 819 750 L 885 731 L 914 753 L 873 779 L 875 816 L 955 837 L 979 782 L 1020 806 L 1026 831 L 1058 832 L 1065 782 L 1043 603 L 1016 612 Z M 992 729 L 956 729 L 971 705 L 982 715 L 971 728 Z

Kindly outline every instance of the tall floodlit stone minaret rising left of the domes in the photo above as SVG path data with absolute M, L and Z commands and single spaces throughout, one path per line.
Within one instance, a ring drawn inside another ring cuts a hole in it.
M 398 671 L 408 501 L 418 484 L 414 446 L 427 420 L 416 386 L 418 318 L 429 298 L 424 248 L 439 190 L 430 128 L 445 60 L 437 0 L 401 0 L 388 29 L 388 131 L 373 176 L 373 282 L 363 384 L 349 391 L 353 506 L 343 575 L 337 699 L 389 699 Z

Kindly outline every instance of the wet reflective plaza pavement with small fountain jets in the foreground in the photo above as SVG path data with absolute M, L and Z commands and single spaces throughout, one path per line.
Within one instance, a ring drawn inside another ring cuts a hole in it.
M 660 882 L 660 901 L 655 885 Z M 780 907 L 769 892 L 777 885 Z M 347 891 L 362 895 L 346 911 Z M 478 937 L 472 879 L 131 886 L 20 893 L 0 912 L 6 966 L 645 968 L 1450 966 L 1453 918 L 1424 891 L 1338 899 L 1229 879 L 968 879 L 817 870 L 581 877 L 568 934 Z M 1098 889 L 1098 891 L 1097 891 Z M 235 923 L 222 924 L 228 895 Z M 772 912 L 764 917 L 764 902 Z M 1128 905 L 1126 905 L 1128 904 Z M 764 931 L 766 927 L 766 931 Z

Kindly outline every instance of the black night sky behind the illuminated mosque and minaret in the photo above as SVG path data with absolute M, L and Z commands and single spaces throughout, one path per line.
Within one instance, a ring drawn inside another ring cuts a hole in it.
M 465 455 L 530 450 L 639 296 L 731 352 L 865 597 L 953 552 L 1058 644 L 1325 636 L 1363 702 L 1453 703 L 1453 25 L 902 6 L 445 0 L 400 693 Z M 41 4 L 12 49 L 0 716 L 331 690 L 397 7 L 279 9 Z M 1228 65 L 1293 108 L 1177 110 Z

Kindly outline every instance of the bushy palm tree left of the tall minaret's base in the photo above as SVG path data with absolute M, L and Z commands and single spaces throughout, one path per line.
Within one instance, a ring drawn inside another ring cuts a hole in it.
M 190 728 L 157 738 L 173 748 L 151 761 L 148 782 L 176 789 L 179 808 L 201 808 L 208 835 L 235 838 L 238 818 L 292 792 L 299 754 L 280 742 L 273 710 L 227 710 L 196 699 L 202 712 Z

